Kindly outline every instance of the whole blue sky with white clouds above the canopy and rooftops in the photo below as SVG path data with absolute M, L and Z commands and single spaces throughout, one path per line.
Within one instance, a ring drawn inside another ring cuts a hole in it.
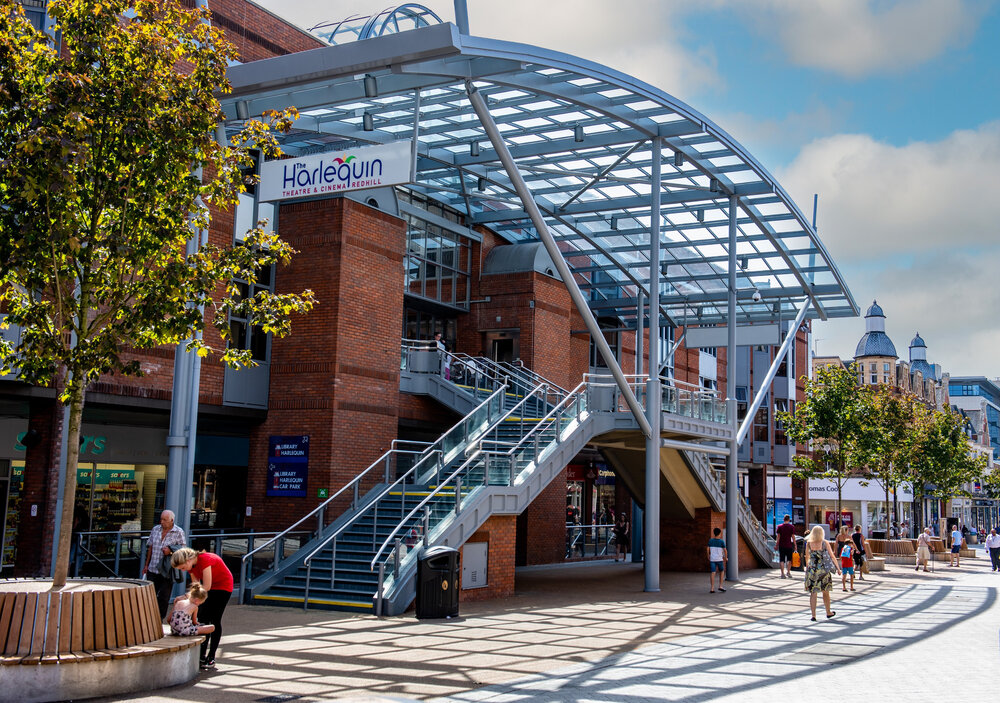
M 257 0 L 311 26 L 373 0 Z M 451 0 L 428 0 L 444 20 Z M 1000 376 L 1000 0 L 469 0 L 473 34 L 575 54 L 671 93 L 811 213 L 897 353 Z M 860 318 L 817 323 L 851 357 Z

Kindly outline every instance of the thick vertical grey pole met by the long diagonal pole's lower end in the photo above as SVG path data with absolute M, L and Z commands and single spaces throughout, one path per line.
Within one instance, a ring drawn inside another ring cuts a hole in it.
M 652 193 L 649 221 L 649 379 L 646 381 L 646 418 L 650 431 L 646 434 L 646 562 L 645 588 L 660 590 L 660 193 L 662 189 L 661 159 L 663 143 L 653 140 Z

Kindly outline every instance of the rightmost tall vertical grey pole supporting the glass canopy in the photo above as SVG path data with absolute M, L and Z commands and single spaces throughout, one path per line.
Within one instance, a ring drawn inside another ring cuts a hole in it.
M 739 442 L 736 434 L 736 195 L 729 196 L 729 311 L 726 315 L 728 340 L 726 343 L 726 410 L 729 427 L 733 436 L 729 440 L 729 456 L 726 460 L 726 547 L 729 562 L 726 578 L 738 581 L 740 578 L 740 525 L 739 525 L 739 474 L 737 452 Z

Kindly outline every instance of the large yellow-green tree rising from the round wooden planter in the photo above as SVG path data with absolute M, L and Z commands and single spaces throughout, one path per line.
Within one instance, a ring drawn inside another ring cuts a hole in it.
M 51 386 L 69 406 L 61 587 L 87 385 L 140 374 L 134 350 L 185 340 L 250 364 L 248 351 L 200 339 L 206 317 L 223 343 L 230 313 L 281 336 L 313 297 L 239 297 L 234 278 L 254 282 L 293 253 L 260 227 L 242 245 L 186 251 L 208 230 L 209 206 L 236 202 L 249 151 L 276 155 L 272 130 L 294 118 L 275 113 L 216 142 L 235 50 L 207 12 L 178 0 L 52 0 L 48 11 L 58 48 L 0 0 L 0 305 L 21 329 L 2 349 L 3 373 Z

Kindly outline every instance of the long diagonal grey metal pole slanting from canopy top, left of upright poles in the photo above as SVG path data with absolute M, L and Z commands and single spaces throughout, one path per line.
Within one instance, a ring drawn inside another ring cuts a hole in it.
M 608 370 L 611 371 L 611 375 L 614 376 L 615 383 L 618 384 L 618 388 L 621 390 L 622 395 L 625 396 L 625 402 L 628 403 L 629 410 L 632 411 L 632 415 L 635 417 L 635 421 L 639 424 L 640 429 L 642 429 L 643 434 L 647 437 L 652 436 L 652 429 L 649 426 L 649 421 L 643 416 L 642 407 L 639 405 L 639 401 L 636 400 L 632 389 L 629 388 L 628 381 L 626 380 L 624 374 L 622 374 L 621 366 L 618 365 L 618 360 L 615 359 L 615 355 L 612 353 L 611 347 L 608 346 L 608 341 L 604 338 L 604 334 L 601 331 L 600 326 L 597 324 L 597 320 L 594 319 L 594 313 L 590 310 L 590 306 L 587 305 L 587 301 L 584 299 L 583 293 L 580 292 L 580 287 L 576 284 L 576 279 L 573 277 L 573 273 L 569 270 L 569 266 L 566 265 L 566 260 L 563 259 L 562 252 L 559 251 L 558 245 L 556 245 L 555 240 L 549 233 L 549 228 L 545 224 L 545 218 L 542 217 L 542 213 L 538 209 L 538 205 L 535 204 L 534 196 L 528 188 L 527 183 L 524 182 L 524 178 L 521 177 L 521 172 L 517 170 L 514 158 L 510 155 L 510 151 L 507 149 L 507 144 L 500 135 L 500 130 L 497 129 L 496 122 L 493 121 L 493 116 L 490 115 L 489 108 L 486 107 L 486 101 L 483 100 L 483 96 L 479 94 L 479 90 L 472 85 L 471 81 L 466 82 L 466 90 L 469 93 L 469 102 L 472 104 L 472 108 L 476 111 L 476 115 L 479 117 L 479 122 L 483 125 L 483 130 L 489 137 L 490 143 L 496 150 L 497 156 L 503 164 L 504 171 L 506 171 L 508 178 L 510 178 L 511 185 L 514 186 L 514 190 L 517 192 L 517 197 L 521 200 L 521 204 L 524 206 L 525 212 L 527 212 L 531 217 L 531 222 L 534 224 L 535 230 L 538 232 L 539 239 L 542 240 L 542 244 L 545 245 L 545 250 L 552 258 L 552 263 L 555 265 L 556 270 L 559 271 L 559 275 L 563 279 L 563 284 L 569 292 L 569 297 L 572 298 L 573 304 L 576 306 L 577 311 L 580 313 L 584 323 L 587 325 L 590 337 L 597 346 L 597 350 L 604 359 L 604 363 L 608 365 Z M 650 301 L 650 308 L 653 309 L 652 301 Z

